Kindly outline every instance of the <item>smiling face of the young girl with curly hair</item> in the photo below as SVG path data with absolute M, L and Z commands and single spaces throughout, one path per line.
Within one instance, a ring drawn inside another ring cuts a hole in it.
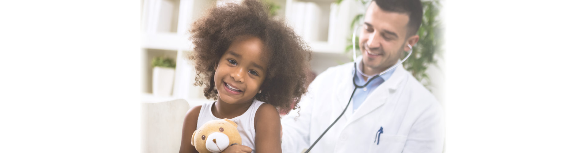
M 215 67 L 219 100 L 229 104 L 253 100 L 266 76 L 267 61 L 262 52 L 263 43 L 255 36 L 240 36 L 230 44 Z

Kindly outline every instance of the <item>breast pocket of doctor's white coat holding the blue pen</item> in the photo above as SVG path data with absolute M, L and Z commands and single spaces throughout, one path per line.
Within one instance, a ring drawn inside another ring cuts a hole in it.
M 380 134 L 380 142 L 377 143 L 377 137 L 372 145 L 370 145 L 368 152 L 402 152 L 406 142 L 406 136 Z

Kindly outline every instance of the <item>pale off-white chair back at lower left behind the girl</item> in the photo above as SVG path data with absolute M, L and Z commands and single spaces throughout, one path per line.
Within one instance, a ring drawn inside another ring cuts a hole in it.
M 179 152 L 183 119 L 190 106 L 183 99 L 142 103 L 141 152 Z

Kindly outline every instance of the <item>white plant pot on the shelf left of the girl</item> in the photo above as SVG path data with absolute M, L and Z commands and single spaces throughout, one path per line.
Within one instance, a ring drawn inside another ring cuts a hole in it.
M 175 69 L 153 67 L 153 95 L 171 96 Z

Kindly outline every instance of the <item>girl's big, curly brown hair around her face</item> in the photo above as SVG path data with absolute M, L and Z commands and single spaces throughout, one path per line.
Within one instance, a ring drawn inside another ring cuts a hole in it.
M 238 36 L 255 36 L 263 42 L 268 59 L 266 79 L 255 98 L 280 112 L 298 108 L 306 93 L 306 71 L 310 47 L 283 21 L 268 15 L 268 6 L 256 0 L 212 6 L 191 26 L 194 47 L 189 58 L 196 69 L 196 86 L 205 86 L 204 96 L 217 100 L 215 64 Z

